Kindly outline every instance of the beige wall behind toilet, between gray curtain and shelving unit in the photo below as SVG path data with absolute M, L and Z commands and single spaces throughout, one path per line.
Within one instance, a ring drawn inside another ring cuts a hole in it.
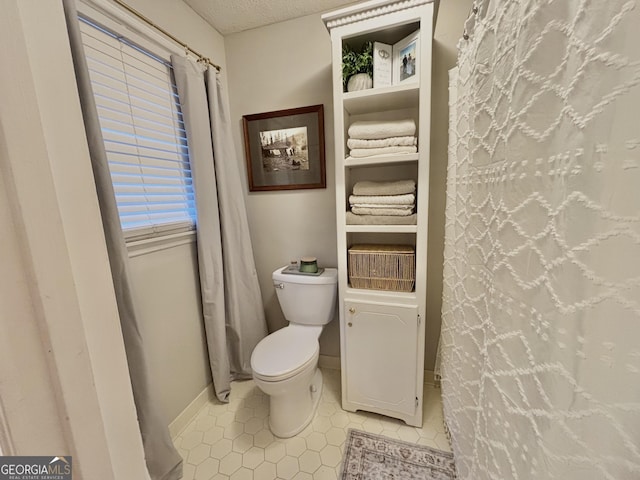
M 337 264 L 331 47 L 319 15 L 225 37 L 231 122 L 237 161 L 246 178 L 242 116 L 324 105 L 327 188 L 247 195 L 249 228 L 269 330 L 285 325 L 271 273 L 304 255 Z M 245 181 L 246 187 L 246 181 Z M 246 187 L 248 188 L 248 187 Z M 339 356 L 338 322 L 320 341 L 323 355 Z

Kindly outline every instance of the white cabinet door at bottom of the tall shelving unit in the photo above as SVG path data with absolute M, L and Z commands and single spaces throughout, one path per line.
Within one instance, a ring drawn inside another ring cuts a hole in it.
M 418 307 L 345 301 L 347 400 L 413 415 Z

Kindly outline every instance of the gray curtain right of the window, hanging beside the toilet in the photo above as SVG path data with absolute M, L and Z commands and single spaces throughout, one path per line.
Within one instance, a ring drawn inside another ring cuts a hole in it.
M 251 378 L 251 353 L 267 335 L 230 116 L 217 72 L 171 57 L 187 129 L 198 209 L 202 310 L 216 396 Z

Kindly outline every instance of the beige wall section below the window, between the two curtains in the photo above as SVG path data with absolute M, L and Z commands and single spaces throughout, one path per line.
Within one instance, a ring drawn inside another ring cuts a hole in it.
M 211 383 L 196 244 L 132 253 L 130 271 L 149 370 L 169 424 Z

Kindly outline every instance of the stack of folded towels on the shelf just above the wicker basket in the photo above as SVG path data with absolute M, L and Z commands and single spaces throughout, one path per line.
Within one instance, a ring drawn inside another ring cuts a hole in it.
M 349 205 L 349 225 L 415 225 L 416 182 L 358 182 Z

